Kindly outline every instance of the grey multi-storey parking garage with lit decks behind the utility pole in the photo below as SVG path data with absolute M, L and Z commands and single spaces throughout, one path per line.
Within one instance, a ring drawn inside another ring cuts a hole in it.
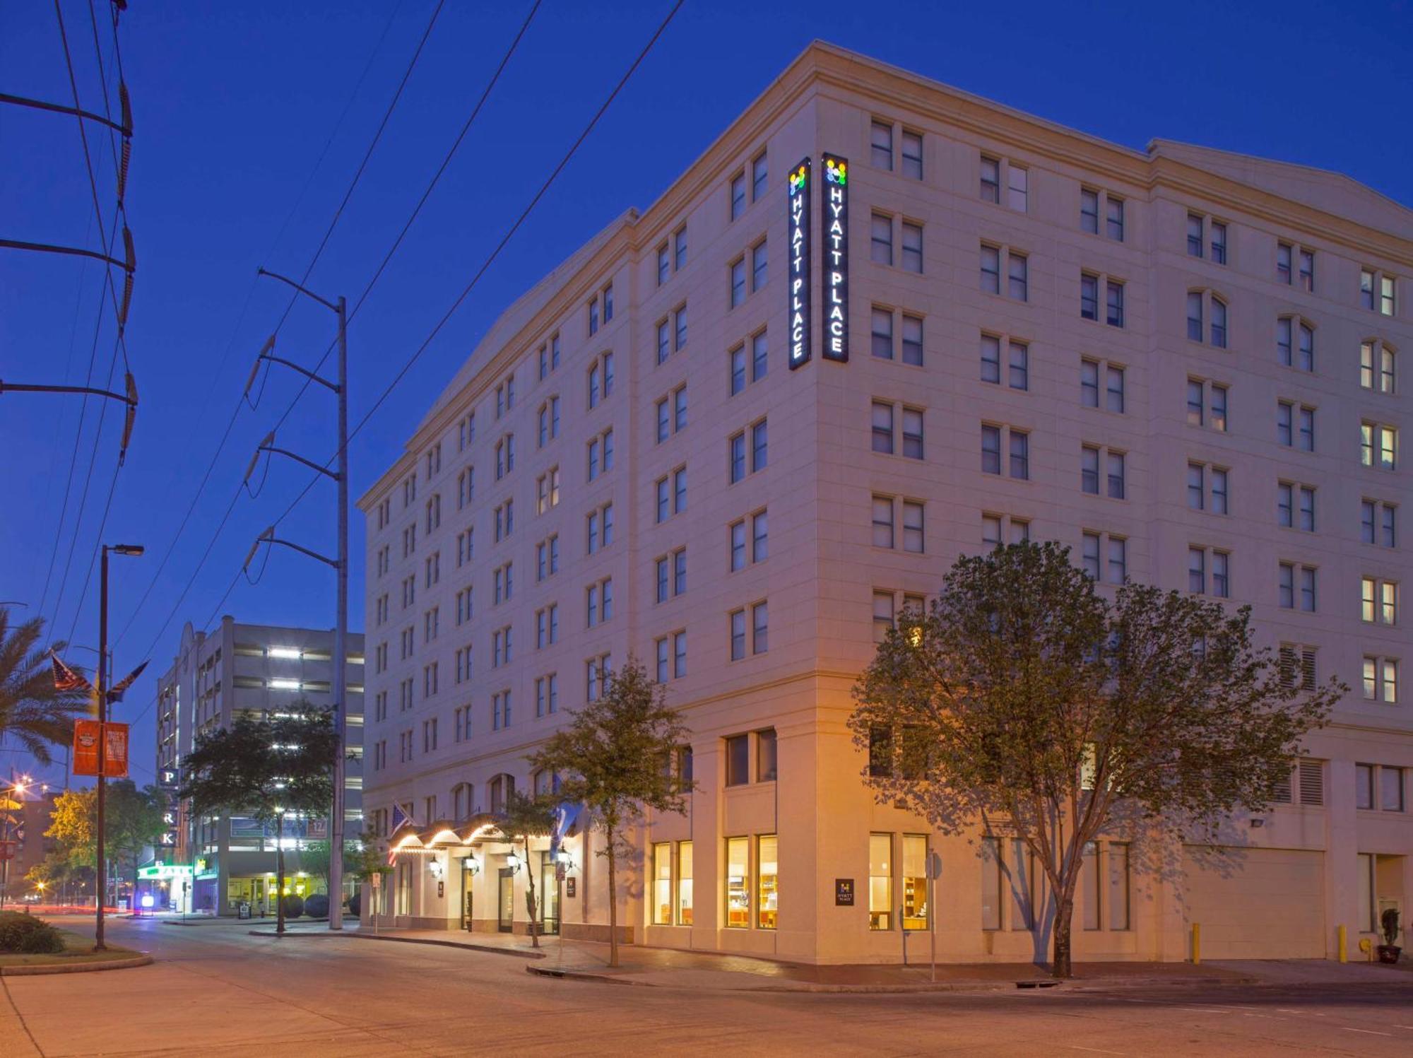
M 345 774 L 345 837 L 363 833 L 363 636 L 348 636 L 348 717 L 350 760 Z M 182 760 L 196 736 L 227 727 L 236 717 L 260 719 L 295 702 L 331 709 L 333 631 L 239 624 L 222 617 L 211 634 L 182 628 L 171 668 L 157 680 L 157 775 L 164 788 L 185 778 Z M 328 837 L 326 819 L 287 819 L 285 873 L 290 893 L 325 891 L 322 878 L 302 874 L 298 850 Z M 235 915 L 274 914 L 276 826 L 246 816 L 192 816 L 178 805 L 172 827 L 154 849 L 160 864 L 144 880 L 160 883 L 157 907 Z M 187 885 L 189 883 L 189 885 Z M 348 883 L 352 891 L 352 880 Z M 189 897 L 187 895 L 189 893 Z

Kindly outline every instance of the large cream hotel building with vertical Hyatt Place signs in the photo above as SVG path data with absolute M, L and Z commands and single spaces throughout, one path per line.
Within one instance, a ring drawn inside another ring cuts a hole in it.
M 877 803 L 845 726 L 894 617 L 1030 537 L 1102 591 L 1249 604 L 1299 679 L 1351 687 L 1280 803 L 1229 820 L 1235 870 L 1099 840 L 1075 958 L 1184 959 L 1193 924 L 1207 958 L 1352 946 L 1413 895 L 1410 300 L 1413 212 L 1347 177 L 1135 150 L 811 45 L 503 313 L 360 499 L 366 803 L 403 850 L 382 921 L 526 928 L 490 813 L 552 786 L 526 754 L 633 653 L 697 791 L 636 835 L 626 936 L 1043 955 L 1016 843 Z M 547 928 L 606 935 L 599 849 L 574 835 L 562 885 L 528 864 Z

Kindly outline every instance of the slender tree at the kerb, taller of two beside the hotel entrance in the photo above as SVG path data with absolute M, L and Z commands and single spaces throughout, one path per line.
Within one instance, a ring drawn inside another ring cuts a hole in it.
M 558 772 L 560 798 L 582 802 L 605 830 L 599 856 L 609 861 L 609 966 L 617 966 L 617 861 L 632 851 L 623 829 L 644 808 L 685 812 L 694 784 L 664 767 L 688 737 L 681 717 L 667 707 L 666 687 L 649 679 L 632 655 L 605 683 L 599 697 L 571 713 L 569 724 L 528 760 Z

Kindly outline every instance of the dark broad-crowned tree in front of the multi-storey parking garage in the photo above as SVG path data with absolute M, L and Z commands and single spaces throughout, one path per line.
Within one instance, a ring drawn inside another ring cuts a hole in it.
M 329 810 L 338 751 L 332 713 L 300 702 L 271 719 L 240 716 L 230 727 L 203 731 L 184 762 L 187 779 L 178 796 L 191 798 L 196 815 L 243 812 L 276 823 L 278 935 L 284 934 L 284 819 Z

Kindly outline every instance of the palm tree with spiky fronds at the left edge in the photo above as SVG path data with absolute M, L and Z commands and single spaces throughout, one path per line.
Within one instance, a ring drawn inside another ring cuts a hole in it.
M 10 625 L 0 607 L 0 741 L 14 738 L 40 764 L 52 762 L 51 745 L 73 740 L 73 719 L 90 709 L 86 689 L 55 690 L 49 652 L 40 649 L 44 621 Z M 54 644 L 62 651 L 65 644 Z

